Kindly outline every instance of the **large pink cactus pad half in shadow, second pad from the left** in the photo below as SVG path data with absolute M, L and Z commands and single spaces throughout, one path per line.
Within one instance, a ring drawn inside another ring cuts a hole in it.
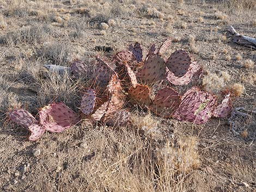
M 48 104 L 39 112 L 40 124 L 50 132 L 62 132 L 75 125 L 80 119 L 64 103 Z

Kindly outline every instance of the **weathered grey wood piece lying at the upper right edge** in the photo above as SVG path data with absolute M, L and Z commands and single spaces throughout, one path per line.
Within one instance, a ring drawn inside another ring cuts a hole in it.
M 250 38 L 249 36 L 240 35 L 236 32 L 234 27 L 230 26 L 228 28 L 228 33 L 231 35 L 231 39 L 238 45 L 249 47 L 256 50 L 256 39 Z

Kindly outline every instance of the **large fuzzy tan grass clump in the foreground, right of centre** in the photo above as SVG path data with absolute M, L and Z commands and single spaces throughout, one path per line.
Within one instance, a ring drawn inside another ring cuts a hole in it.
M 180 173 L 190 172 L 200 166 L 199 155 L 197 152 L 196 137 L 180 138 L 177 147 L 166 144 L 160 151 L 163 162 L 168 163 L 170 170 L 178 170 Z

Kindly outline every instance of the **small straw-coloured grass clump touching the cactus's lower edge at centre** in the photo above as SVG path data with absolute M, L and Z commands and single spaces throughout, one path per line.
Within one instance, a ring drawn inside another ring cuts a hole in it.
M 132 115 L 131 122 L 135 127 L 138 127 L 146 133 L 157 132 L 157 125 L 159 123 L 150 113 L 145 116 Z

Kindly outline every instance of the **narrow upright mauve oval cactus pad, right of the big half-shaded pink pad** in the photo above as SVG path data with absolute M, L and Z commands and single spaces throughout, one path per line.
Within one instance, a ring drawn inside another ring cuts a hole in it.
M 89 115 L 93 112 L 96 101 L 96 93 L 93 89 L 88 89 L 84 92 L 81 101 L 81 111 L 85 115 Z

